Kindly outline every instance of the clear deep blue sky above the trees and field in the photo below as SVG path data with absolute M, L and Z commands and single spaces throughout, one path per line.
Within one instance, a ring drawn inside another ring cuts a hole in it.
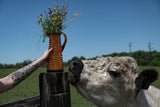
M 37 24 L 55 0 L 0 0 L 0 63 L 38 59 L 48 49 Z M 61 0 L 59 3 L 61 3 Z M 68 0 L 68 16 L 82 15 L 63 31 L 68 37 L 63 60 L 113 52 L 160 51 L 160 0 Z M 63 42 L 63 38 L 62 38 Z

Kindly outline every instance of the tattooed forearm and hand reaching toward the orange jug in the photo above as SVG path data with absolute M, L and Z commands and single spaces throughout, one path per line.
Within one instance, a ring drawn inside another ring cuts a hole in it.
M 31 64 L 11 73 L 10 75 L 0 79 L 0 93 L 7 91 L 25 78 L 27 78 L 33 71 L 35 71 L 41 65 L 47 63 L 49 53 L 52 51 L 52 48 L 48 49 L 40 59 L 32 62 Z

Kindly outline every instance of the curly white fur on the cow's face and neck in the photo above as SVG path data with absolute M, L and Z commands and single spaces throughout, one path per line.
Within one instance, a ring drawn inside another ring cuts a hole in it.
M 77 83 L 77 90 L 100 107 L 160 107 L 160 91 L 150 86 L 136 97 L 135 78 L 138 66 L 131 57 L 102 57 L 84 60 L 84 67 Z M 113 77 L 108 71 L 119 72 Z M 153 97 L 152 92 L 157 92 Z M 156 102 L 154 99 L 159 99 Z M 156 105 L 157 104 L 157 105 Z

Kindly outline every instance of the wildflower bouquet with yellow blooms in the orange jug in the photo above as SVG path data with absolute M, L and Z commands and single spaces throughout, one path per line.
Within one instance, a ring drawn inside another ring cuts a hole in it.
M 48 13 L 45 12 L 45 16 L 41 14 L 38 17 L 38 24 L 43 28 L 43 41 L 49 34 L 61 34 L 62 30 L 66 28 L 65 22 L 72 22 L 73 17 L 81 14 L 79 12 L 67 18 L 68 5 L 66 5 L 66 2 L 67 0 L 65 0 L 62 7 L 59 7 L 57 3 L 55 3 L 53 9 L 49 8 Z

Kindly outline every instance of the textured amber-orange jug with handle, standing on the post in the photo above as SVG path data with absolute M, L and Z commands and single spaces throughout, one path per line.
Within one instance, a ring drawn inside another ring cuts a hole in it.
M 64 43 L 61 45 L 61 34 L 64 36 Z M 47 72 L 63 72 L 63 59 L 62 52 L 67 42 L 67 36 L 65 33 L 61 34 L 49 34 L 49 48 L 53 48 L 53 51 L 49 55 Z

